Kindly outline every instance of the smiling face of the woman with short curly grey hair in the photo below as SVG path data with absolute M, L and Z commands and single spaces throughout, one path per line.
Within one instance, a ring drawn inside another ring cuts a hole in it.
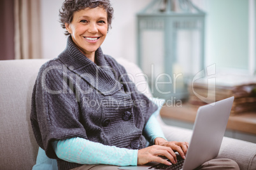
M 95 51 L 101 46 L 108 32 L 106 10 L 96 7 L 76 11 L 72 22 L 65 25 L 78 49 L 94 62 Z

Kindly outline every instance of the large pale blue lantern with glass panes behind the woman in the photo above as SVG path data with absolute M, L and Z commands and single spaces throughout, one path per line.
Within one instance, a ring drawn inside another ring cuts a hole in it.
M 187 80 L 204 67 L 205 13 L 189 0 L 154 0 L 137 14 L 138 64 L 153 96 L 187 98 Z

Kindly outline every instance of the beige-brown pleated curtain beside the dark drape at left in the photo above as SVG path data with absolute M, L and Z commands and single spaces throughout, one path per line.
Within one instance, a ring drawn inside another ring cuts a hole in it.
M 15 0 L 15 59 L 41 58 L 40 0 Z

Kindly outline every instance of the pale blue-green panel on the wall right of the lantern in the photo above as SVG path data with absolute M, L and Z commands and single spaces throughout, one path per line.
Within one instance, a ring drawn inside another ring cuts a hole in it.
M 206 65 L 248 69 L 248 0 L 206 1 Z

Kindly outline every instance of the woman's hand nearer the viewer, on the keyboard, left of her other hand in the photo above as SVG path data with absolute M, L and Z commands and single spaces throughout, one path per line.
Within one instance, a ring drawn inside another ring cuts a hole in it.
M 164 156 L 171 160 L 173 164 L 177 163 L 176 154 L 170 147 L 163 147 L 160 145 L 152 145 L 151 147 L 146 147 L 138 150 L 138 165 L 144 165 L 148 162 L 159 162 L 171 166 L 171 162 L 162 159 L 159 156 Z

